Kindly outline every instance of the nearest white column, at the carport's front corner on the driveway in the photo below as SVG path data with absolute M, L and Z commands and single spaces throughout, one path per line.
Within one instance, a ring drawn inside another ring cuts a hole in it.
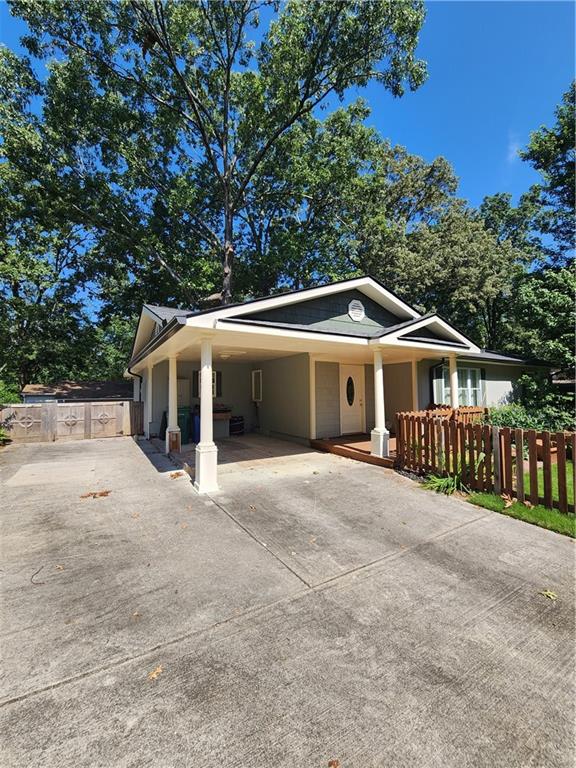
M 198 493 L 218 490 L 218 449 L 213 439 L 212 414 L 212 342 L 202 339 L 200 347 L 200 442 L 196 446 Z

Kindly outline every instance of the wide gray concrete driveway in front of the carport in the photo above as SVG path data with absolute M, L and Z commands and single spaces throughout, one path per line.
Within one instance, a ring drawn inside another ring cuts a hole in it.
M 284 453 L 0 452 L 3 768 L 573 766 L 573 541 Z

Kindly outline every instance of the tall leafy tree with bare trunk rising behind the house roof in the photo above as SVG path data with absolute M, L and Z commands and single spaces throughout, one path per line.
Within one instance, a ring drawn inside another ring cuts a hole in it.
M 30 54 L 58 58 L 44 118 L 64 147 L 55 177 L 86 197 L 79 220 L 135 240 L 146 258 L 141 230 L 145 238 L 152 232 L 154 258 L 178 282 L 189 265 L 182 272 L 167 252 L 179 255 L 174 244 L 193 233 L 188 259 L 198 251 L 219 259 L 224 303 L 232 298 L 237 220 L 275 145 L 350 87 L 376 80 L 400 95 L 425 77 L 414 55 L 424 19 L 417 0 L 288 0 L 272 6 L 277 15 L 263 34 L 259 11 L 270 6 L 255 0 L 11 7 L 31 30 Z M 199 273 L 212 277 L 205 260 Z

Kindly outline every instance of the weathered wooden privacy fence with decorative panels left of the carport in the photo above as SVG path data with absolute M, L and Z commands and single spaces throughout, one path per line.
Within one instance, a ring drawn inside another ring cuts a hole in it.
M 144 404 L 122 400 L 6 405 L 0 409 L 2 422 L 7 422 L 10 440 L 19 443 L 139 435 L 144 431 Z

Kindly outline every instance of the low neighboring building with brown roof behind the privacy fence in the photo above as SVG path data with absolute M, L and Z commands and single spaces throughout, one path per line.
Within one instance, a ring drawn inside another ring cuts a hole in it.
M 57 384 L 27 384 L 22 392 L 24 403 L 82 403 L 132 400 L 131 381 L 60 381 Z M 137 399 L 137 398 L 136 398 Z

